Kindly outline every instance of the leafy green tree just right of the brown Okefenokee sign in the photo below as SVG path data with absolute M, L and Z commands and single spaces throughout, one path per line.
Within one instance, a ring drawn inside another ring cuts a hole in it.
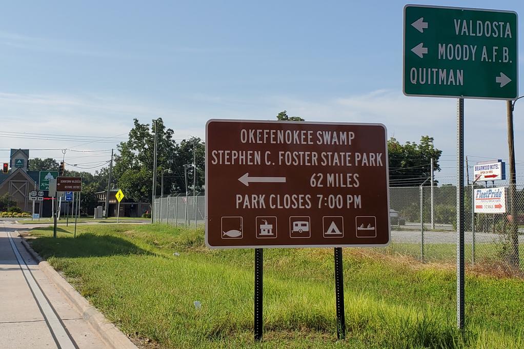
M 433 137 L 422 136 L 420 143 L 400 144 L 395 138 L 388 140 L 389 185 L 418 186 L 431 175 L 431 159 L 434 171 L 440 171 L 439 158 L 442 154 L 433 145 Z M 429 181 L 425 185 L 430 185 Z

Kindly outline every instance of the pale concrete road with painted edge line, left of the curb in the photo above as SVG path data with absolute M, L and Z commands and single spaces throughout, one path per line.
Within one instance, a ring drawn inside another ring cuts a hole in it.
M 16 227 L 0 222 L 0 349 L 105 348 L 21 245 Z

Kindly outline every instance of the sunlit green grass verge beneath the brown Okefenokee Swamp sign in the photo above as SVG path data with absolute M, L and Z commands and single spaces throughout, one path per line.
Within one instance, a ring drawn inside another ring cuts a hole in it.
M 253 250 L 209 250 L 202 230 L 166 225 L 77 233 L 32 230 L 32 246 L 125 333 L 163 348 L 524 347 L 521 279 L 468 275 L 460 333 L 453 270 L 344 249 L 347 339 L 336 341 L 333 250 L 265 249 L 264 341 L 254 343 Z

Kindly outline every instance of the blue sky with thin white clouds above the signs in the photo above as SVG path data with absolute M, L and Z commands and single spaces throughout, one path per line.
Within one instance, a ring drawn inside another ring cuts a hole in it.
M 445 182 L 455 174 L 456 100 L 403 96 L 405 4 L 6 2 L 0 14 L 2 130 L 125 136 L 134 117 L 150 122 L 160 116 L 177 138 L 203 138 L 210 118 L 274 119 L 287 109 L 308 121 L 382 122 L 401 142 L 433 136 L 444 151 Z M 433 5 L 524 14 L 521 1 Z M 522 48 L 519 56 L 522 78 Z M 507 158 L 505 103 L 465 104 L 466 154 Z M 520 101 L 516 157 L 524 162 L 523 117 Z M 105 150 L 119 140 L 85 144 L 3 134 L 0 149 Z M 105 154 L 86 153 L 71 163 L 92 162 L 83 165 L 91 167 Z M 7 156 L 0 151 L 0 161 Z M 61 158 L 62 153 L 31 156 Z

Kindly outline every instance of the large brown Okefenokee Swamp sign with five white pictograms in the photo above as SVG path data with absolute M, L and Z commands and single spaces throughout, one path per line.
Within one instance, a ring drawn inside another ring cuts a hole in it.
M 210 120 L 210 248 L 385 246 L 382 124 Z

